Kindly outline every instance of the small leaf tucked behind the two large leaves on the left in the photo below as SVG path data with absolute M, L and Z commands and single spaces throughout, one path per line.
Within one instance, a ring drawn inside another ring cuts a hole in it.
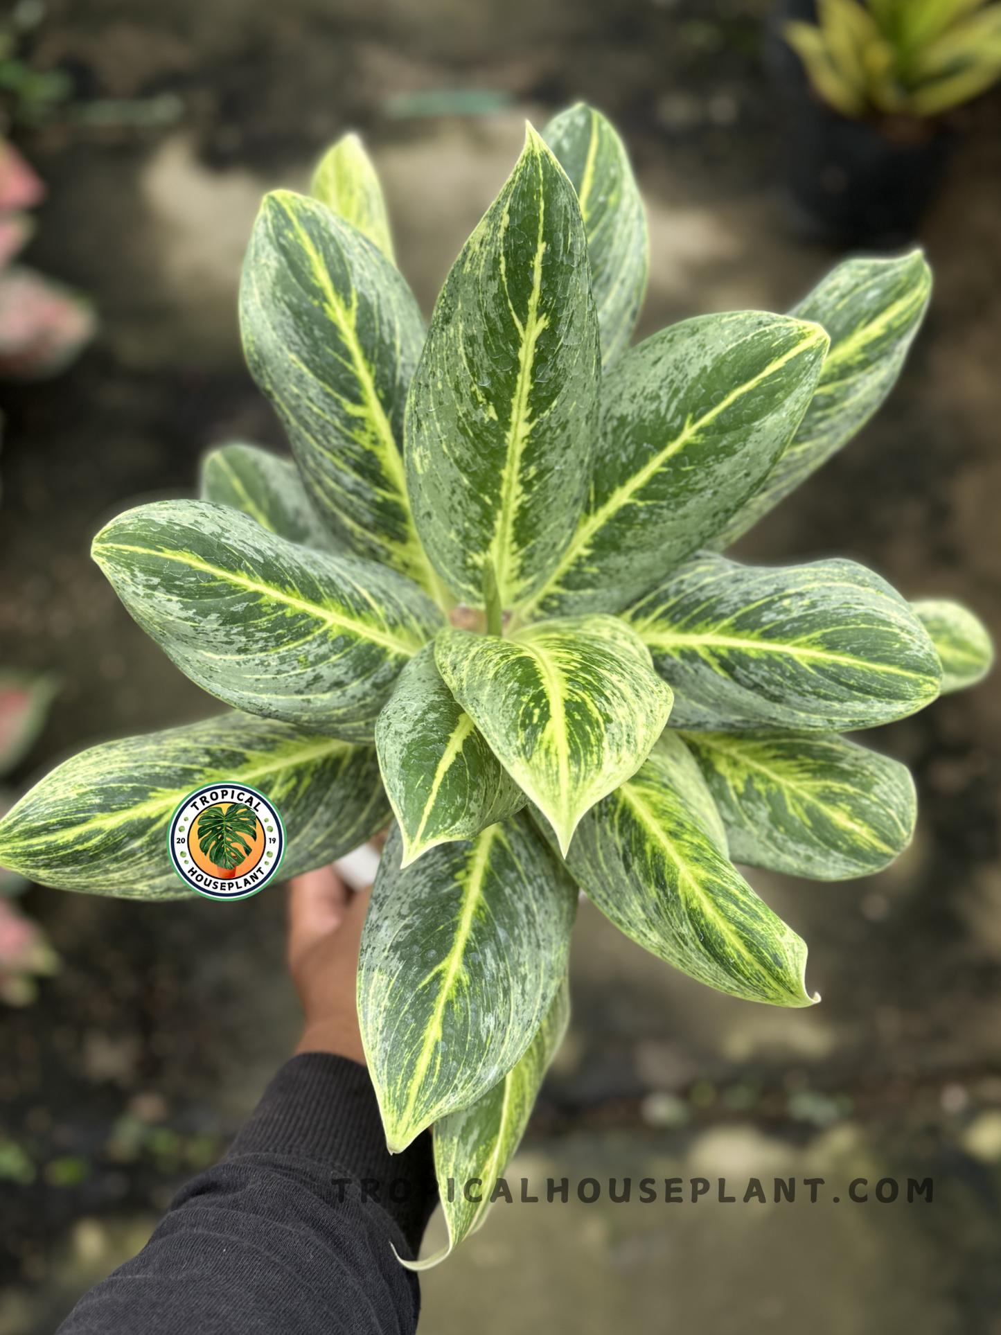
M 323 551 L 343 551 L 323 525 L 294 463 L 256 445 L 223 445 L 202 459 L 203 501 L 228 505 L 262 529 Z

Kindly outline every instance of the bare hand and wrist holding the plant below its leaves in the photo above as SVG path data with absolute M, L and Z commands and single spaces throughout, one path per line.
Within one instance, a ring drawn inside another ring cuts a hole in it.
M 288 972 L 306 1028 L 295 1049 L 366 1064 L 355 983 L 371 886 L 354 893 L 332 866 L 288 882 Z

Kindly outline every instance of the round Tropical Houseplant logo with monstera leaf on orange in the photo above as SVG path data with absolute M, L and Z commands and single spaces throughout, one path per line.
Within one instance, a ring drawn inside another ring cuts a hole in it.
M 210 900 L 246 900 L 271 881 L 286 852 L 278 808 L 246 784 L 208 784 L 174 813 L 171 861 L 192 890 Z

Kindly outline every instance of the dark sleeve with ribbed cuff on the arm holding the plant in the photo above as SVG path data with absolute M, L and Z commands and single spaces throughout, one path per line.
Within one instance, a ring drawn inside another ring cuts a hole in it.
M 438 1200 L 431 1135 L 386 1149 L 368 1072 L 292 1057 L 227 1157 L 59 1335 L 412 1335 L 412 1259 Z

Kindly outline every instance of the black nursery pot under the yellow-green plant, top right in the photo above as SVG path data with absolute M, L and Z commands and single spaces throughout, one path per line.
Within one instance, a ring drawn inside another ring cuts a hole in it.
M 765 64 L 785 104 L 781 170 L 793 226 L 817 240 L 901 246 L 938 187 L 952 135 L 909 120 L 909 138 L 926 136 L 900 143 L 901 125 L 849 120 L 822 103 L 782 37 L 790 19 L 815 17 L 814 0 L 781 0 L 765 36 Z

